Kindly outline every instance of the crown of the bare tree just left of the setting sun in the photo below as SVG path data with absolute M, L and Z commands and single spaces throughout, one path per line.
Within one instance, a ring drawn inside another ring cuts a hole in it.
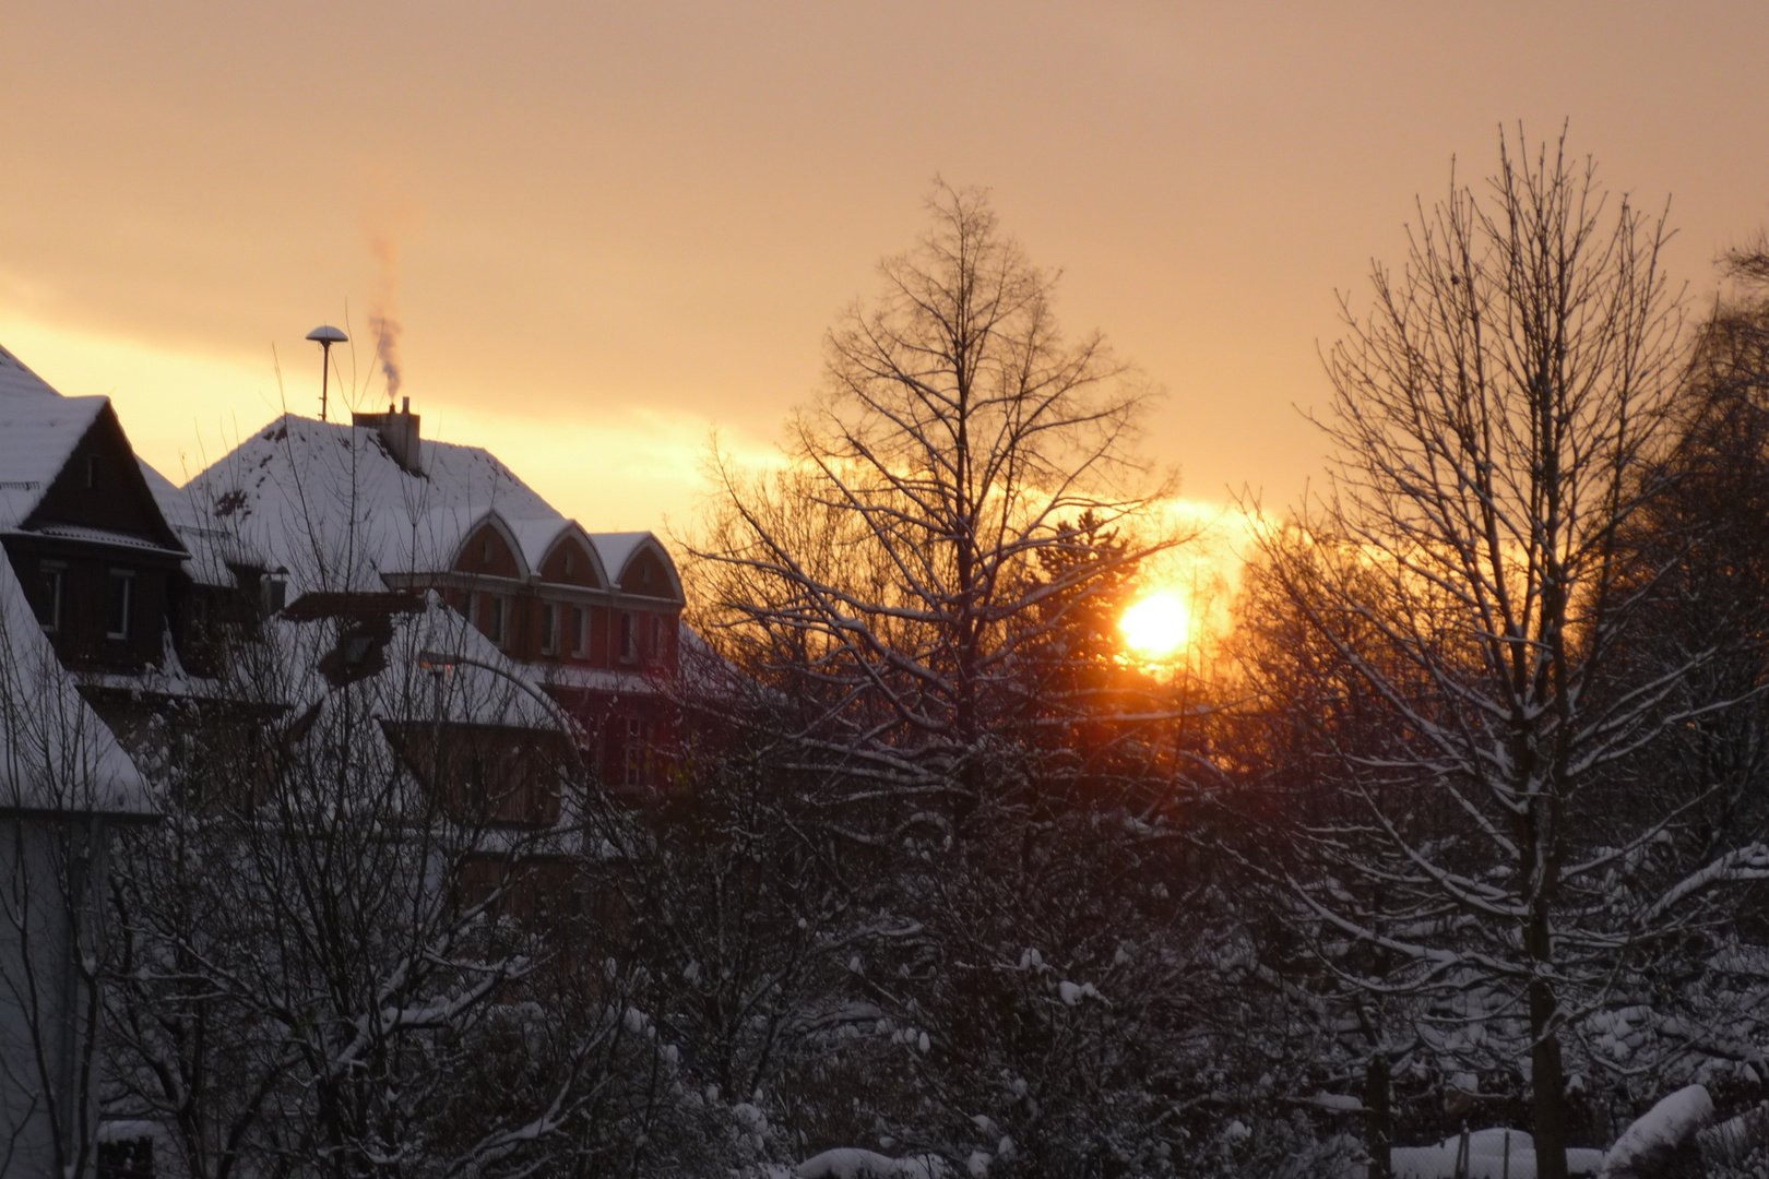
M 727 649 L 793 681 L 805 751 L 872 788 L 976 804 L 1005 684 L 1040 603 L 1164 543 L 1088 550 L 1166 486 L 1130 444 L 1148 391 L 1097 334 L 1068 341 L 1056 276 L 984 193 L 939 184 L 934 228 L 830 332 L 824 391 L 787 467 L 720 493 L 695 548 Z M 1074 550 L 1058 576 L 1037 559 Z

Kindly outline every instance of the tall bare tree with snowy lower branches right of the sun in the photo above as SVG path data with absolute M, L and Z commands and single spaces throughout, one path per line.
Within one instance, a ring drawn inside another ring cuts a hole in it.
M 1760 845 L 1691 857 L 1688 799 L 1633 778 L 1689 718 L 1679 688 L 1705 659 L 1642 675 L 1622 658 L 1658 587 L 1624 529 L 1658 490 L 1684 362 L 1665 239 L 1564 138 L 1502 138 L 1486 193 L 1452 180 L 1406 265 L 1375 269 L 1371 309 L 1346 308 L 1330 491 L 1302 511 L 1304 544 L 1263 551 L 1387 734 L 1334 758 L 1352 813 L 1300 831 L 1320 868 L 1288 882 L 1380 951 L 1371 992 L 1433 993 L 1474 1039 L 1527 1050 L 1550 1179 L 1567 1027 L 1709 886 L 1769 866 Z

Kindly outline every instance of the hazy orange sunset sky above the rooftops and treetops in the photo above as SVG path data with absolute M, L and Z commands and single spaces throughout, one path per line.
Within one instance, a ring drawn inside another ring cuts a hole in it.
M 391 295 L 426 433 L 591 529 L 683 525 L 708 433 L 766 453 L 941 173 L 1169 391 L 1187 497 L 1283 504 L 1334 290 L 1500 122 L 1673 196 L 1705 297 L 1769 223 L 1765 49 L 1760 2 L 7 0 L 0 343 L 177 479 L 315 412 L 302 336 Z

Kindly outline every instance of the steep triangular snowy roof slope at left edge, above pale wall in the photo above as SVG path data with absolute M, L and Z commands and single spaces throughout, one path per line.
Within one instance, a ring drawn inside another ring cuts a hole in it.
M 147 783 L 80 696 L 0 559 L 0 811 L 150 815 Z

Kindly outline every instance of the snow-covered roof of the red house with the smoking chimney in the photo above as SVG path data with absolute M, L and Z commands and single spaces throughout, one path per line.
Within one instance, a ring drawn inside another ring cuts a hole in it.
M 414 474 L 375 426 L 294 414 L 258 430 L 184 491 L 209 513 L 205 527 L 232 529 L 267 564 L 287 567 L 292 596 L 371 592 L 384 573 L 449 569 L 485 523 L 509 537 L 524 576 L 566 534 L 589 541 L 609 582 L 646 541 L 656 543 L 649 532 L 584 532 L 483 447 L 425 440 L 423 474 Z

